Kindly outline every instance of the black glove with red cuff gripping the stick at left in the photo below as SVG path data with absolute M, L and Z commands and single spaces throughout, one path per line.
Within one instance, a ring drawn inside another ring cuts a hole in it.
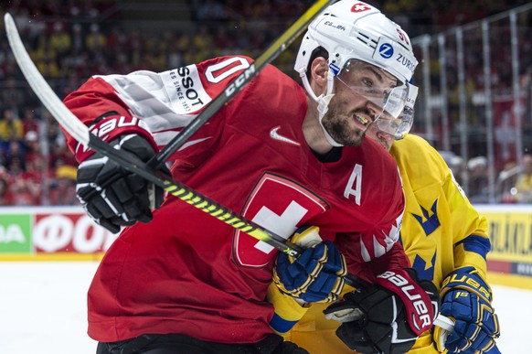
M 144 162 L 155 155 L 153 138 L 151 134 L 146 134 L 143 123 L 137 118 L 108 117 L 91 131 L 109 133 L 109 126 L 114 129 L 106 137 L 115 149 Z M 109 139 L 110 136 L 114 138 Z M 76 157 L 80 162 L 77 195 L 87 214 L 96 223 L 116 233 L 121 226 L 131 226 L 137 220 L 148 222 L 153 219 L 151 209 L 161 206 L 165 194 L 163 188 L 154 186 L 100 153 L 79 151 Z M 160 170 L 170 176 L 166 166 Z

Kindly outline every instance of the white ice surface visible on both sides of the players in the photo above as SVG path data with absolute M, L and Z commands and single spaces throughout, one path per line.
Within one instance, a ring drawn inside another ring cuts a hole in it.
M 94 354 L 86 293 L 97 263 L 0 263 L 1 354 Z M 532 291 L 493 286 L 503 354 L 530 353 Z

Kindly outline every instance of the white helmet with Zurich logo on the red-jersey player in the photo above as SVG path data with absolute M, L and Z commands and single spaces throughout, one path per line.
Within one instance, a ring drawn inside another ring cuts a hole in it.
M 335 75 L 347 60 L 359 59 L 407 83 L 418 65 L 410 38 L 401 27 L 361 1 L 338 1 L 314 19 L 303 37 L 294 69 L 306 71 L 319 47 L 328 52 L 329 68 Z

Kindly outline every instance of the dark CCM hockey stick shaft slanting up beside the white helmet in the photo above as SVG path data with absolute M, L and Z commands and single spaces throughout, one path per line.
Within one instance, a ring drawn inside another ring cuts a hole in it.
M 295 38 L 297 38 L 306 27 L 311 23 L 315 16 L 322 11 L 326 5 L 329 5 L 333 1 L 320 0 L 316 1 L 303 16 L 299 17 L 297 21 L 293 23 L 279 38 L 277 38 L 270 47 L 268 47 L 259 58 L 255 59 L 250 67 L 239 74 L 234 80 L 232 80 L 228 87 L 220 92 L 218 96 L 207 104 L 201 113 L 196 118 L 186 125 L 186 127 L 179 132 L 161 151 L 148 161 L 148 166 L 154 169 L 162 166 L 165 161 L 174 154 L 179 147 L 186 143 L 186 140 L 197 132 L 199 128 L 215 114 L 218 110 L 227 102 L 229 102 L 240 90 L 246 86 L 251 79 L 259 74 L 264 67 L 276 59 L 285 48 L 290 46 Z

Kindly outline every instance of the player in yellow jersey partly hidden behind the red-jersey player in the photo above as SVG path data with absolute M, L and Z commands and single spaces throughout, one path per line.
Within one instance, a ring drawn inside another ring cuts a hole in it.
M 440 289 L 441 314 L 455 324 L 452 334 L 439 327 L 424 332 L 408 353 L 500 353 L 495 345 L 499 324 L 486 282 L 487 221 L 473 208 L 442 156 L 420 136 L 407 135 L 412 108 L 410 113 L 405 108 L 408 114 L 402 121 L 378 118 L 367 136 L 388 150 L 399 166 L 406 198 L 400 240 L 420 279 Z M 272 286 L 269 298 L 276 308 L 271 326 L 286 331 L 289 340 L 313 354 L 386 352 L 371 343 L 372 334 L 364 324 L 326 319 L 328 304 L 299 306 Z

